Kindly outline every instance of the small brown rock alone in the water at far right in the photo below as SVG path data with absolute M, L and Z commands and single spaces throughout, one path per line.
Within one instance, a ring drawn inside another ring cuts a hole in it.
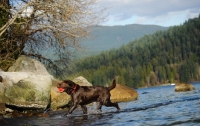
M 195 90 L 192 84 L 179 83 L 175 85 L 176 92 L 185 92 L 185 91 L 192 91 L 192 90 Z

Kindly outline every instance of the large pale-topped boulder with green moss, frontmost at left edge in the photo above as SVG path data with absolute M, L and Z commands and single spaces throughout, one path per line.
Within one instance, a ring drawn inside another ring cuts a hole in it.
M 0 103 L 26 108 L 46 108 L 51 77 L 25 72 L 0 72 Z

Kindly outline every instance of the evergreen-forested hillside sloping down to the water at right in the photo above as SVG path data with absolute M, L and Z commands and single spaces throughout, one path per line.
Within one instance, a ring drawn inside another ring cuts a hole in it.
M 68 77 L 79 75 L 94 85 L 110 84 L 116 77 L 134 88 L 200 81 L 200 16 L 74 62 Z

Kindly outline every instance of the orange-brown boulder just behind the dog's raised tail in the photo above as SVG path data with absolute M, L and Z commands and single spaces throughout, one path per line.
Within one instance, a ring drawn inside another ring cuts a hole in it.
M 138 92 L 136 90 L 122 84 L 117 84 L 110 93 L 112 102 L 127 102 L 138 98 Z

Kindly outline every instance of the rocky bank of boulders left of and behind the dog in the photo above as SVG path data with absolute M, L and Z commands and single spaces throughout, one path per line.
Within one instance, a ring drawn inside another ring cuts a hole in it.
M 1 117 L 48 116 L 48 110 L 69 106 L 70 96 L 60 93 L 56 87 L 60 81 L 50 75 L 39 61 L 20 56 L 7 72 L 0 71 Z M 84 77 L 73 81 L 81 86 L 92 86 Z M 117 85 L 111 92 L 114 102 L 135 100 L 137 97 L 138 93 L 125 85 Z

